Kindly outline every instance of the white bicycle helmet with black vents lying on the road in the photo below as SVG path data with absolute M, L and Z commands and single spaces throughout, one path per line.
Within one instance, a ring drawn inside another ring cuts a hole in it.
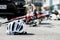
M 14 20 L 8 23 L 7 34 L 12 34 L 14 32 L 22 33 L 25 31 L 25 28 L 26 28 L 26 24 L 24 23 L 22 19 Z

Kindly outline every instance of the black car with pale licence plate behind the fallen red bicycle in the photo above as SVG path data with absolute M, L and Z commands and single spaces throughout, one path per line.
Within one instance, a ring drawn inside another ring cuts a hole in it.
M 0 17 L 23 16 L 26 14 L 26 7 L 24 7 L 24 0 L 0 0 Z

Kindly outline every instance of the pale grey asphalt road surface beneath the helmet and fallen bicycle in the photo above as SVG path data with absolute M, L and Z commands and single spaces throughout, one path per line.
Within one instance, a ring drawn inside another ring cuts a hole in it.
M 46 20 L 36 27 L 26 26 L 26 35 L 7 35 L 6 24 L 0 27 L 0 40 L 60 40 L 60 21 Z

